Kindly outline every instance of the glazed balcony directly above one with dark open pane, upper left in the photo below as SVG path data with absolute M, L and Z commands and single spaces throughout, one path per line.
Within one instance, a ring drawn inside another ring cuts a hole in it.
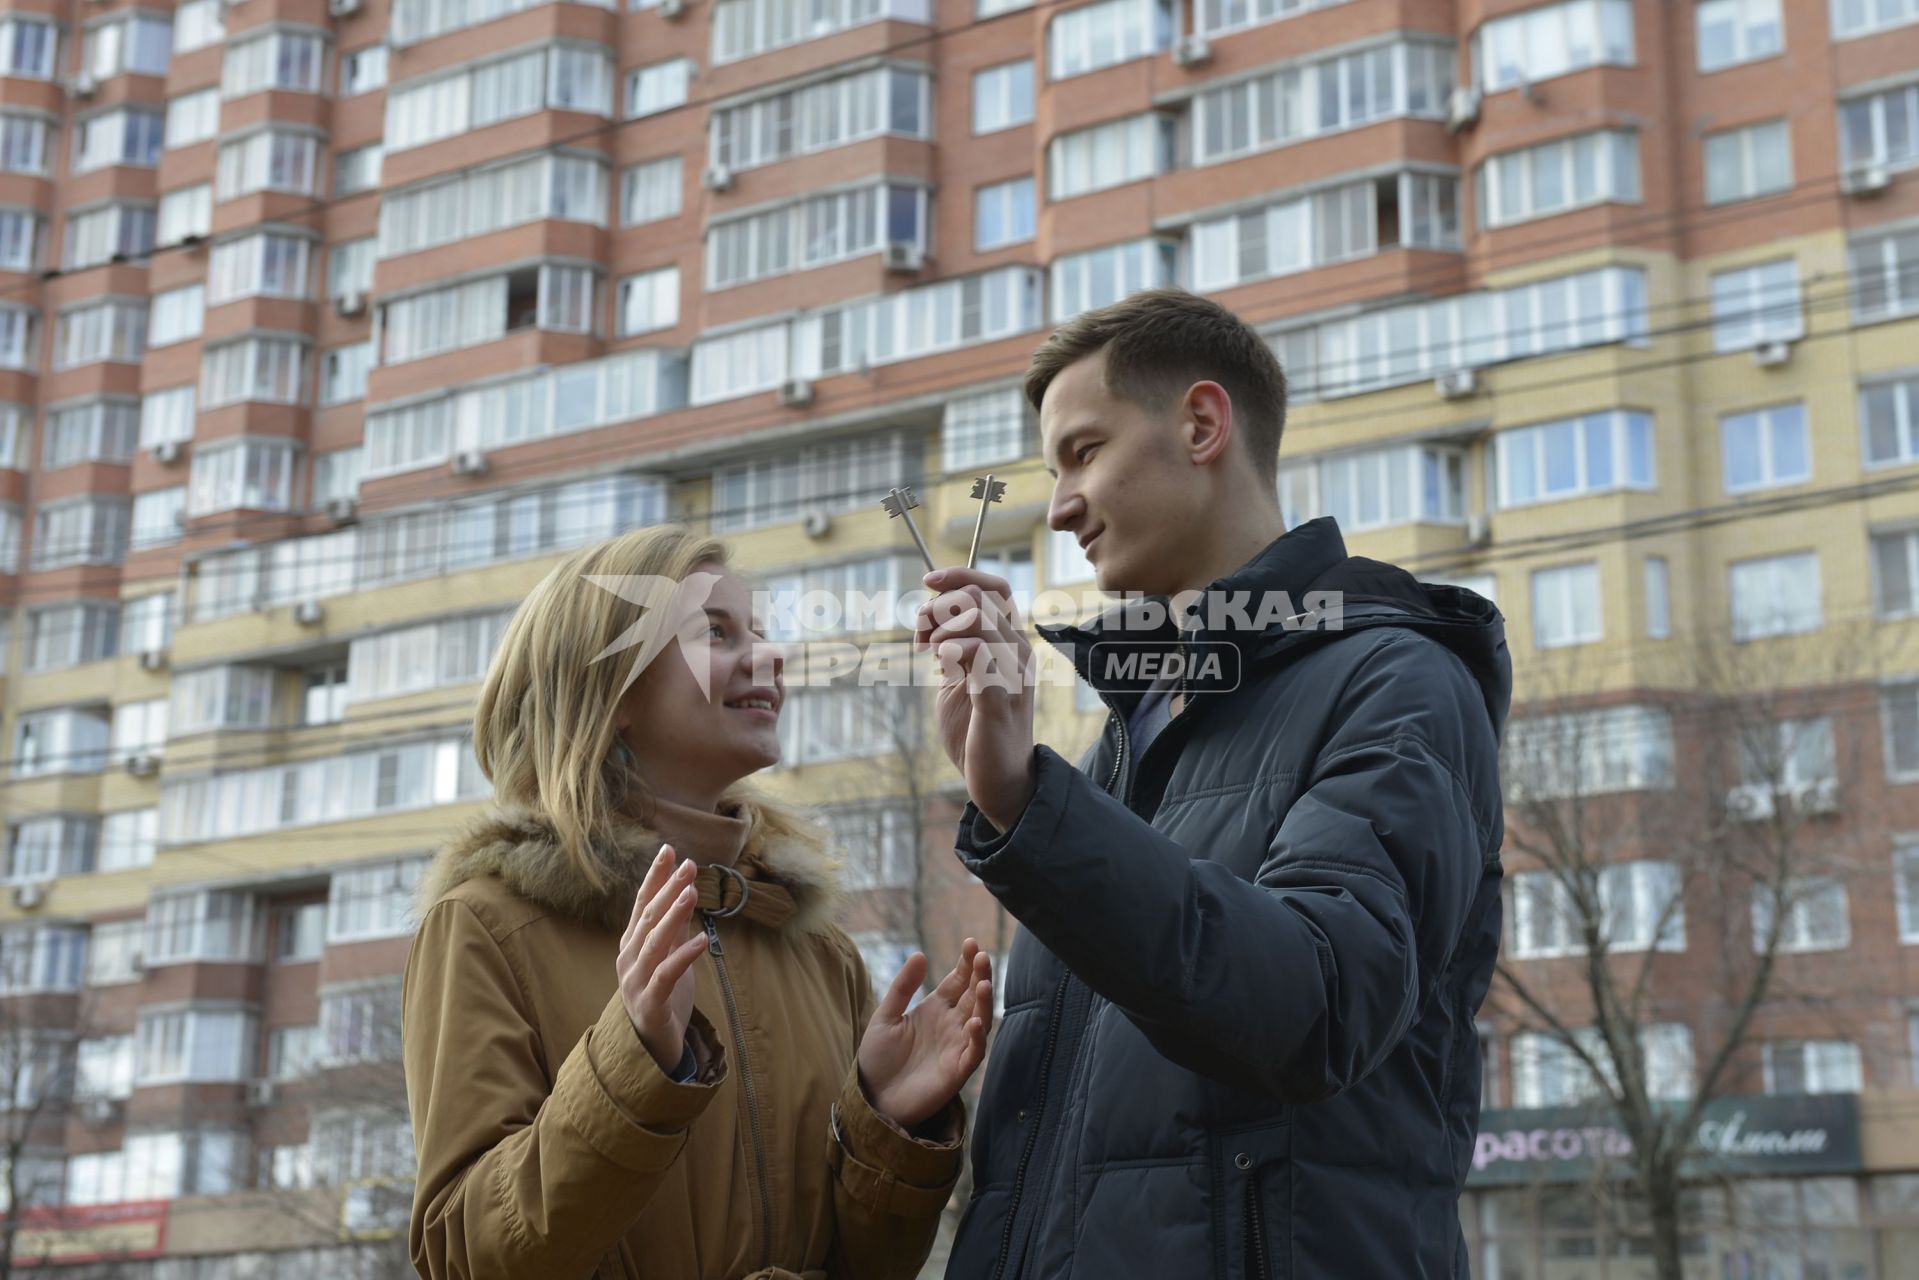
M 674 192 L 677 200 L 677 192 Z M 591 155 L 526 155 L 380 196 L 380 257 L 535 219 L 606 225 L 606 167 Z M 370 242 L 367 284 L 372 282 Z M 363 290 L 365 292 L 365 290 Z

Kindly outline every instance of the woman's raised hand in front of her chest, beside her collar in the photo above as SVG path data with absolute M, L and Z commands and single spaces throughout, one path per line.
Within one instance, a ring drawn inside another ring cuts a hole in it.
M 633 894 L 633 917 L 620 936 L 620 1004 L 639 1032 L 639 1042 L 672 1075 L 687 1048 L 693 1021 L 693 961 L 706 950 L 706 936 L 693 927 L 700 894 L 699 871 L 687 858 L 674 865 L 674 846 L 662 844 Z

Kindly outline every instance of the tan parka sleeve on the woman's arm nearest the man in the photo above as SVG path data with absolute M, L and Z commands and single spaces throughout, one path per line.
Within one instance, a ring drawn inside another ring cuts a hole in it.
M 877 1006 L 865 961 L 852 940 L 854 1046 Z M 960 1180 L 965 1105 L 948 1102 L 913 1136 L 873 1109 L 860 1086 L 858 1048 L 835 1103 L 837 1130 L 827 1136 L 833 1165 L 833 1261 L 844 1280 L 912 1280 L 919 1274 L 940 1213 Z

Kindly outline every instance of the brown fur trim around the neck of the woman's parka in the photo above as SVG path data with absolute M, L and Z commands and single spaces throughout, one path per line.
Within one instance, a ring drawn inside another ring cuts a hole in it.
M 798 910 L 783 929 L 821 933 L 831 925 L 839 913 L 841 864 L 825 833 L 796 810 L 752 791 L 735 789 L 722 804 L 737 806 L 748 823 L 737 869 L 746 879 L 777 881 L 793 894 Z M 493 875 L 514 894 L 558 915 L 620 931 L 660 842 L 660 835 L 641 821 L 606 831 L 593 848 L 604 883 L 595 889 L 574 867 L 545 814 L 495 806 L 434 856 L 416 890 L 418 915 L 466 881 Z

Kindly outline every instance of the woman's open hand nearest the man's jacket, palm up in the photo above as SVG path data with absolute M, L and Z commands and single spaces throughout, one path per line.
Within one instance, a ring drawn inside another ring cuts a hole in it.
M 925 975 L 925 954 L 908 956 L 860 1040 L 867 1098 L 900 1128 L 913 1128 L 960 1092 L 986 1057 L 992 1027 L 992 960 L 979 942 L 967 938 L 960 963 L 908 1011 Z

